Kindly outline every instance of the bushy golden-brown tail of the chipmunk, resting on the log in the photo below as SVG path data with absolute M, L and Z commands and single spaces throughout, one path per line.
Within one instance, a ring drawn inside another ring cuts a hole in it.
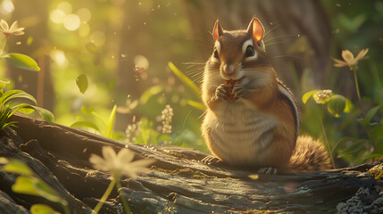
M 298 136 L 296 150 L 290 159 L 291 171 L 321 171 L 332 169 L 329 152 L 311 136 Z

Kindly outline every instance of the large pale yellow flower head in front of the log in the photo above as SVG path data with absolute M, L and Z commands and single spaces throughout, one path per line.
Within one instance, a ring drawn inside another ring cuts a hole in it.
M 124 174 L 128 177 L 136 178 L 137 173 L 147 171 L 146 166 L 154 162 L 153 159 L 133 161 L 134 152 L 128 149 L 121 149 L 116 154 L 112 147 L 104 146 L 102 152 L 104 159 L 96 154 L 91 154 L 89 161 L 96 169 L 112 172 L 113 175 Z

